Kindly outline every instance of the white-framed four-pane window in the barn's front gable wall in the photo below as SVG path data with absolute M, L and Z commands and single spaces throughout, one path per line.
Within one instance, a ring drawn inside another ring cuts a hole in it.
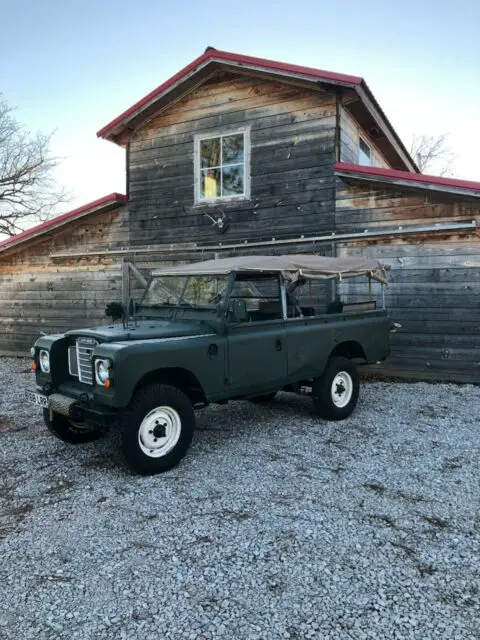
M 195 201 L 249 197 L 249 131 L 195 138 Z

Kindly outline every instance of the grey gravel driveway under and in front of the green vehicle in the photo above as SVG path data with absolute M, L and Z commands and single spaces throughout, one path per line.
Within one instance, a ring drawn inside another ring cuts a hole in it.
M 479 389 L 365 383 L 198 414 L 175 470 L 65 445 L 0 359 L 0 638 L 480 637 Z

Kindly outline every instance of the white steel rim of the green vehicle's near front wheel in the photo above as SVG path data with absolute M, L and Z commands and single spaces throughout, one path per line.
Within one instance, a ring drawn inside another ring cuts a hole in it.
M 140 424 L 138 446 L 149 458 L 161 458 L 175 447 L 181 431 L 182 421 L 175 409 L 156 407 Z

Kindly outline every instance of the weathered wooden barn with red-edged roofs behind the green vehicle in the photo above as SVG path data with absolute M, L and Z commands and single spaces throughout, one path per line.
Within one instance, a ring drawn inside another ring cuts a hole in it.
M 106 321 L 159 263 L 363 254 L 402 324 L 383 373 L 480 382 L 480 183 L 420 174 L 362 78 L 209 48 L 97 135 L 127 195 L 0 244 L 1 353 Z

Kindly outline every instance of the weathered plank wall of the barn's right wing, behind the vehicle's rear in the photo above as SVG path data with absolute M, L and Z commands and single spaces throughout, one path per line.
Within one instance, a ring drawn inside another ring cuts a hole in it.
M 428 190 L 338 180 L 339 233 L 381 226 L 476 219 L 480 204 Z M 346 242 L 337 255 L 374 257 L 391 266 L 386 303 L 402 329 L 382 370 L 424 379 L 480 382 L 480 234 L 407 235 Z M 347 285 L 350 299 L 363 297 Z

